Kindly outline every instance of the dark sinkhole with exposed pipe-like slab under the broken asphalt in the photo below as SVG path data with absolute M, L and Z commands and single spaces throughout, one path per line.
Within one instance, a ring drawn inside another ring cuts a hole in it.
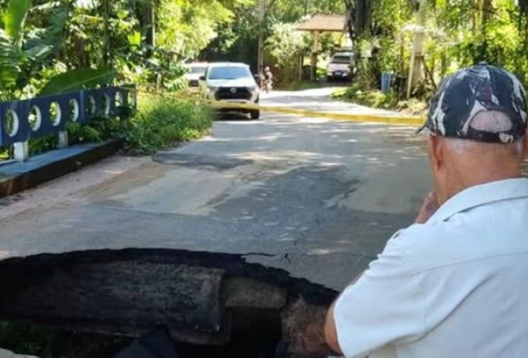
M 241 255 L 147 248 L 6 259 L 0 291 L 4 319 L 131 337 L 165 327 L 178 342 L 229 346 L 219 351 L 230 357 L 274 357 L 279 344 L 324 356 L 337 294 Z

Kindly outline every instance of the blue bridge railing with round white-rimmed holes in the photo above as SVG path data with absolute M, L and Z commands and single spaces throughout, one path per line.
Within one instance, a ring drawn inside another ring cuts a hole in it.
M 29 158 L 29 140 L 57 135 L 58 146 L 68 146 L 68 122 L 87 124 L 95 114 L 111 118 L 121 109 L 136 107 L 134 86 L 80 90 L 47 97 L 0 103 L 0 146 L 14 145 L 14 159 Z

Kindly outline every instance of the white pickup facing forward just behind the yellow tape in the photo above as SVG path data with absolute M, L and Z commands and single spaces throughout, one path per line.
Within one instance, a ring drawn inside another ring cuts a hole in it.
M 248 64 L 236 62 L 217 62 L 209 64 L 205 74 L 200 77 L 202 98 L 230 103 L 259 103 L 260 88 Z M 224 107 L 224 112 L 249 113 L 252 119 L 258 119 L 259 110 L 245 110 L 236 107 Z

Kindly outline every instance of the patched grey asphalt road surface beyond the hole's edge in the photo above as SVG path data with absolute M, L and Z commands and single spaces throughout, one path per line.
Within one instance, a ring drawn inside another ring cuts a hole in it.
M 263 105 L 372 110 L 332 89 L 272 92 Z M 152 158 L 115 156 L 0 202 L 0 255 L 88 248 L 247 254 L 341 289 L 431 189 L 414 128 L 264 113 Z

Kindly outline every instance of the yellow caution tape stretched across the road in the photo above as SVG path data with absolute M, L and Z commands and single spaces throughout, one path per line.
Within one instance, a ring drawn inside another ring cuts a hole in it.
M 130 88 L 128 88 L 128 90 L 130 90 Z M 257 105 L 257 104 L 250 104 L 250 103 L 213 101 L 211 99 L 187 97 L 181 94 L 173 94 L 173 93 L 161 94 L 161 93 L 149 92 L 149 91 L 144 91 L 144 90 L 135 90 L 135 91 L 139 93 L 143 93 L 143 94 L 180 99 L 183 101 L 196 101 L 196 102 L 208 103 L 215 108 L 260 110 L 263 112 L 292 114 L 292 115 L 304 116 L 304 117 L 330 118 L 333 120 L 344 120 L 344 121 L 360 122 L 360 123 L 386 123 L 390 125 L 420 126 L 420 125 L 423 125 L 425 121 L 425 119 L 420 116 L 399 116 L 399 115 L 395 116 L 395 115 L 385 115 L 385 114 L 344 114 L 344 113 L 332 113 L 332 112 L 319 112 L 319 111 L 311 111 L 311 110 L 296 110 L 296 109 L 288 108 L 288 107 L 274 107 L 274 106 Z

